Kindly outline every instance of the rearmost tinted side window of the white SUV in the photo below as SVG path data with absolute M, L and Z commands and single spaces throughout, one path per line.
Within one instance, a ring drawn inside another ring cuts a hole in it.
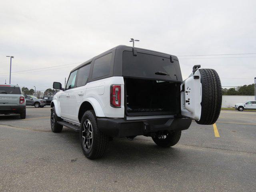
M 94 66 L 92 70 L 93 79 L 109 75 L 111 58 L 112 53 L 109 53 L 94 61 Z

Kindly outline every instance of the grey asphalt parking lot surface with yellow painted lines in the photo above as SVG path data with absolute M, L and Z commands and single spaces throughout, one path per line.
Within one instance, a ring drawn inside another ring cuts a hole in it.
M 114 138 L 88 160 L 78 133 L 50 131 L 50 108 L 0 116 L 0 191 L 232 191 L 256 189 L 256 112 L 222 110 L 216 126 L 192 122 L 172 148 Z

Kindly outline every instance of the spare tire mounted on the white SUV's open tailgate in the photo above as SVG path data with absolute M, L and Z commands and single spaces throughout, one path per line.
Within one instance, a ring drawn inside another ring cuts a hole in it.
M 202 84 L 201 125 L 211 125 L 220 115 L 222 88 L 220 77 L 214 69 L 199 69 Z

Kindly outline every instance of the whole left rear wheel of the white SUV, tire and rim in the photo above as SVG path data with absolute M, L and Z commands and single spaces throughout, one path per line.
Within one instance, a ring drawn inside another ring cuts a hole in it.
M 93 110 L 84 113 L 80 124 L 80 143 L 84 155 L 89 159 L 100 158 L 106 152 L 109 137 L 98 129 Z

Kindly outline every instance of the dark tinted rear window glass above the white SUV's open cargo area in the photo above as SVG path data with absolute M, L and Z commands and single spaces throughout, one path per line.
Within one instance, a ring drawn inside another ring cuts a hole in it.
M 179 62 L 170 58 L 131 51 L 123 52 L 123 75 L 130 77 L 182 81 Z

